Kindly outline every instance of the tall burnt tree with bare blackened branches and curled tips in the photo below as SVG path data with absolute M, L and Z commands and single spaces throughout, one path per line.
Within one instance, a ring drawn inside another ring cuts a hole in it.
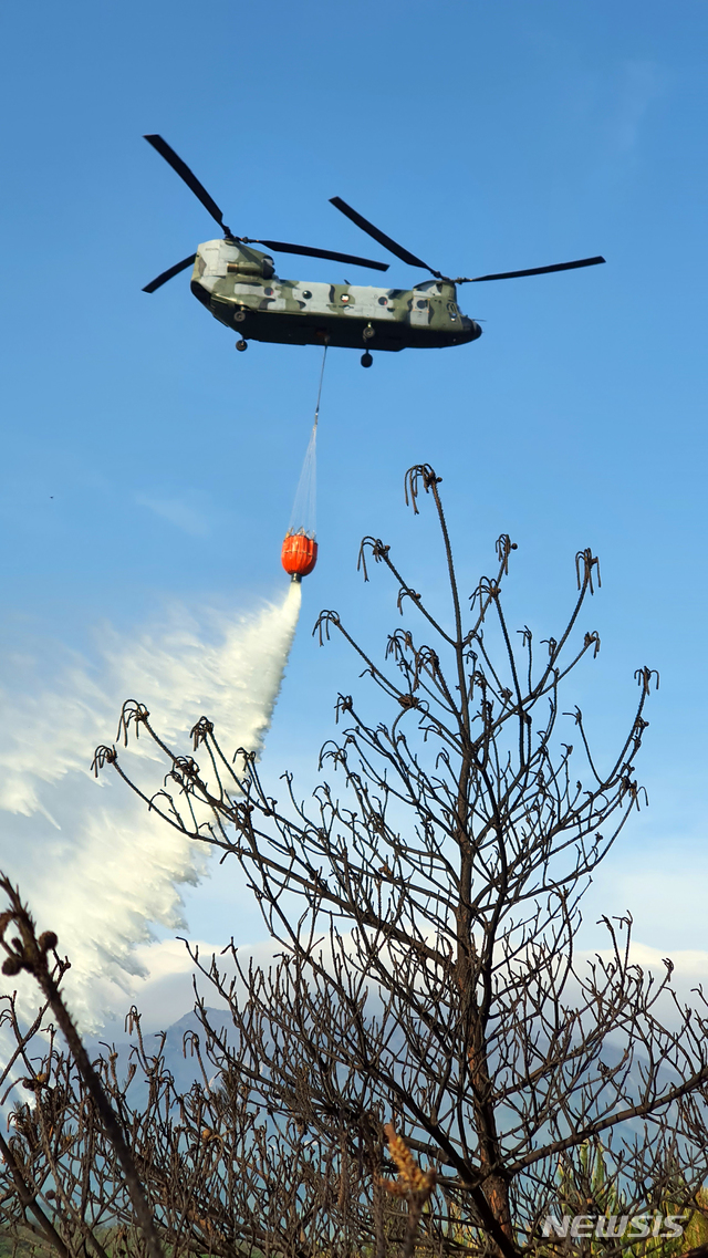
M 592 964 L 573 950 L 589 881 L 644 798 L 635 757 L 658 677 L 638 671 L 626 733 L 611 755 L 591 752 L 582 713 L 563 711 L 572 698 L 561 694 L 600 649 L 581 624 L 597 559 L 576 555 L 567 624 L 534 649 L 503 611 L 509 537 L 497 542 L 495 575 L 469 605 L 462 598 L 439 484 L 428 465 L 406 476 L 412 509 L 424 492 L 436 512 L 448 608 L 428 605 L 382 541 L 365 538 L 360 561 L 365 579 L 372 562 L 394 577 L 399 610 L 424 639 L 397 629 L 377 663 L 336 613 L 319 616 L 321 640 L 342 634 L 380 698 L 370 716 L 366 699 L 340 694 L 343 733 L 322 750 L 309 803 L 289 775 L 273 798 L 254 757 L 231 759 L 207 718 L 181 755 L 142 704 L 123 708 L 126 743 L 148 737 L 166 761 L 146 803 L 240 862 L 280 945 L 269 969 L 233 947 L 195 959 L 210 1063 L 195 1112 L 209 1112 L 210 1157 L 197 1174 L 202 1120 L 195 1135 L 184 1106 L 180 1122 L 165 1111 L 150 1156 L 136 1156 L 175 1253 L 207 1239 L 224 1254 L 385 1258 L 404 1245 L 514 1258 L 587 1249 L 543 1235 L 550 1211 L 702 1208 L 703 998 L 684 1009 L 670 962 L 659 980 L 633 965 L 629 918 L 606 921 Z M 138 790 L 114 746 L 97 751 L 97 771 L 107 765 Z M 209 1014 L 210 989 L 229 1005 L 228 1033 Z M 280 1156 L 288 1205 L 269 1232 Z M 179 1235 L 165 1216 L 167 1165 L 175 1184 L 194 1185 Z M 209 1232 L 189 1233 L 190 1209 Z M 622 1243 L 600 1237 L 592 1248 Z M 651 1244 L 682 1252 L 661 1233 Z

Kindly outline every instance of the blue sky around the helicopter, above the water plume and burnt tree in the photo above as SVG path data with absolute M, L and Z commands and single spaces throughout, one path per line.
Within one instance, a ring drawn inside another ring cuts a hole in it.
M 319 352 L 236 355 L 189 277 L 141 292 L 214 234 L 145 132 L 243 234 L 382 257 L 328 205 L 340 195 L 453 274 L 602 253 L 462 289 L 485 321 L 472 346 L 371 371 L 331 353 L 321 560 L 265 766 L 307 779 L 351 689 L 346 652 L 309 637 L 319 608 L 373 649 L 396 623 L 394 591 L 356 574 L 361 536 L 440 589 L 429 521 L 402 506 L 404 470 L 430 462 L 463 586 L 508 531 L 511 618 L 538 637 L 572 599 L 576 550 L 600 554 L 602 652 L 577 683 L 597 742 L 624 728 L 635 667 L 661 688 L 640 762 L 651 809 L 596 907 L 631 907 L 648 945 L 704 947 L 704 3 L 26 0 L 0 23 L 4 684 L 20 657 L 49 684 L 67 652 L 98 676 L 106 626 L 130 642 L 175 603 L 238 615 L 283 591 Z M 285 255 L 278 270 L 367 282 Z M 389 276 L 418 278 L 396 259 Z M 190 892 L 190 926 L 225 921 L 233 896 L 228 877 Z

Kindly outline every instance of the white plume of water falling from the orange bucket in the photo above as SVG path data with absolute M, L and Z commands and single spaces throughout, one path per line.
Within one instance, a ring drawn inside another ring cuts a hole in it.
M 207 715 L 228 757 L 239 746 L 258 756 L 299 605 L 301 586 L 290 585 L 284 599 L 250 614 L 202 609 L 196 619 L 174 606 L 163 621 L 127 637 L 104 628 L 97 655 L 87 660 L 47 643 L 44 659 L 57 652 L 49 683 L 26 653 L 20 671 L 0 662 L 0 868 L 70 956 L 63 986 L 83 1032 L 98 1032 L 133 1000 L 141 1004 L 140 979 L 153 964 L 157 974 L 172 972 L 175 961 L 165 960 L 160 945 L 151 954 L 153 923 L 184 933 L 182 888 L 209 873 L 201 844 L 165 825 L 121 782 L 96 781 L 93 747 L 114 740 L 121 704 L 135 696 L 185 755 L 191 727 Z M 122 755 L 152 795 L 162 775 L 153 750 L 131 740 Z M 31 1020 L 34 989 L 29 979 L 18 982 Z M 3 1034 L 0 1057 L 9 1050 Z

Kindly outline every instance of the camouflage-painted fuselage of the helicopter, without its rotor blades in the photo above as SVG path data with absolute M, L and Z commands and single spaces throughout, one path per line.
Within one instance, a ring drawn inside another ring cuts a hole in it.
M 279 279 L 269 254 L 228 239 L 199 245 L 191 291 L 243 341 L 397 351 L 482 336 L 448 281 L 404 289 Z

